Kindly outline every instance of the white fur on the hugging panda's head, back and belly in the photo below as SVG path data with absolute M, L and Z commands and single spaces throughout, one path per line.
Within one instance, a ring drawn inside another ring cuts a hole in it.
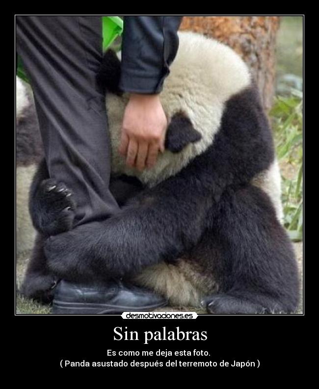
M 112 171 L 135 176 L 150 187 L 178 173 L 212 144 L 220 128 L 225 103 L 251 85 L 247 66 L 229 47 L 192 32 L 180 32 L 179 38 L 179 50 L 165 80 L 160 100 L 168 120 L 176 112 L 186 113 L 202 135 L 199 142 L 189 144 L 178 154 L 165 151 L 152 169 L 138 172 L 128 168 L 124 158 L 118 154 L 128 96 L 106 96 Z M 280 180 L 276 159 L 269 169 L 253 180 L 253 184 L 269 195 L 279 220 L 283 216 Z M 205 295 L 218 290 L 214 280 L 205 275 L 205 269 L 185 259 L 179 259 L 174 265 L 160 263 L 148 267 L 134 281 L 165 295 L 172 305 L 198 306 Z

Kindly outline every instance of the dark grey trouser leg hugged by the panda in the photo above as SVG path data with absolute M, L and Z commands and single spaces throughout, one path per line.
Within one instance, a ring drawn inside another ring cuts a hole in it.
M 31 80 L 49 174 L 74 192 L 75 225 L 118 210 L 108 188 L 105 99 L 95 79 L 101 23 L 97 16 L 17 17 L 17 49 Z

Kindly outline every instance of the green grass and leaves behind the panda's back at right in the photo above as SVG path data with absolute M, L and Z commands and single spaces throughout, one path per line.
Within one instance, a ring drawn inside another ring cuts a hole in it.
M 270 112 L 283 171 L 284 226 L 293 241 L 302 240 L 303 231 L 302 104 L 302 92 L 292 90 L 289 97 L 278 96 Z

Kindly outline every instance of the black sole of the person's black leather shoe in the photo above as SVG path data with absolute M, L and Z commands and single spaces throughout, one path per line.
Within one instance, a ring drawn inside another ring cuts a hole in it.
M 53 301 L 52 314 L 54 315 L 103 315 L 103 314 L 122 314 L 123 312 L 144 312 L 155 308 L 165 307 L 168 301 L 161 304 L 150 305 L 148 307 L 121 307 L 105 304 L 83 304 L 83 303 L 65 303 L 62 301 Z

